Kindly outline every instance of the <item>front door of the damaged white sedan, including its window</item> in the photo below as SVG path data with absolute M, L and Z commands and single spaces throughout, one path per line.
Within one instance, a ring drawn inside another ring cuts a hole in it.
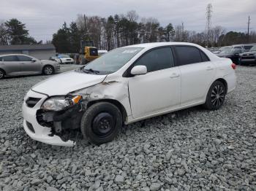
M 161 47 L 146 52 L 133 64 L 140 65 L 146 66 L 148 72 L 129 77 L 132 117 L 144 117 L 178 106 L 181 75 L 178 67 L 174 67 L 171 48 Z

